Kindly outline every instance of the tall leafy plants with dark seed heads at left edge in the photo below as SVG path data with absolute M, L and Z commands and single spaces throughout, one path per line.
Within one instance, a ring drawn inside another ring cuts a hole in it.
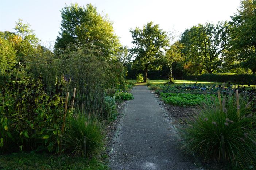
M 15 79 L 11 76 L 0 88 L 0 151 L 54 151 L 60 142 L 65 104 L 58 94 L 61 85 L 47 96 L 41 77 L 35 82 L 27 77 Z

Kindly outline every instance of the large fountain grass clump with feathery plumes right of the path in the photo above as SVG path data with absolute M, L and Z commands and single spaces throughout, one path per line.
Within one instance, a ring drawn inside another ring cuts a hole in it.
M 248 102 L 248 97 L 240 97 L 238 114 L 235 100 L 229 96 L 222 101 L 224 107 L 213 102 L 215 104 L 209 107 L 195 110 L 196 116 L 181 130 L 182 148 L 186 153 L 197 155 L 204 161 L 229 162 L 233 169 L 256 168 L 253 102 Z

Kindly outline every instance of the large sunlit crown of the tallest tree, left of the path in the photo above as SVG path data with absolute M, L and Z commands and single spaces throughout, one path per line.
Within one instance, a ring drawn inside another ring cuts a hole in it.
M 104 59 L 117 54 L 120 42 L 114 33 L 112 22 L 97 13 L 96 7 L 87 4 L 79 7 L 77 3 L 61 9 L 61 32 L 56 39 L 55 48 L 68 46 L 93 48 L 97 56 Z

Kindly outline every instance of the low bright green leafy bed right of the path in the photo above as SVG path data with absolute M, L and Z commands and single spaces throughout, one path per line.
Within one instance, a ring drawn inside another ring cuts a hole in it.
M 209 94 L 161 93 L 160 96 L 164 102 L 176 106 L 195 106 L 211 103 L 211 95 Z

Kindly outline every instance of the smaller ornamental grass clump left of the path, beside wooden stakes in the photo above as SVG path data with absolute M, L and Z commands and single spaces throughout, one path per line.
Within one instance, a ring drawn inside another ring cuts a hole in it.
M 63 149 L 74 156 L 98 155 L 104 146 L 104 123 L 83 109 L 74 110 L 63 136 Z M 86 155 L 84 153 L 86 137 Z

